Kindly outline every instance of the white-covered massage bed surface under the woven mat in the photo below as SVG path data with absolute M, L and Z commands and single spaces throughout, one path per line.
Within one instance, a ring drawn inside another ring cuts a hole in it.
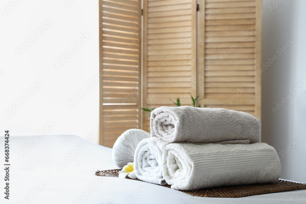
M 38 141 L 33 147 L 30 145 L 31 149 L 21 157 L 20 153 L 24 147 L 26 148 L 34 138 L 37 138 Z M 4 138 L 1 137 L 0 155 L 4 157 L 3 140 Z M 0 203 L 282 204 L 286 201 L 288 203 L 290 198 L 290 204 L 306 203 L 306 190 L 244 198 L 199 198 L 145 182 L 95 176 L 96 170 L 117 169 L 111 158 L 112 150 L 90 142 L 85 144 L 84 141 L 74 135 L 48 135 L 42 138 L 39 136 L 11 136 L 9 142 L 10 199 L 4 199 L 3 192 L 1 192 Z M 82 145 L 82 142 L 85 145 Z M 67 154 L 70 155 L 73 151 L 76 155 L 60 169 L 58 164 L 61 164 L 62 160 L 68 157 Z M 4 191 L 4 168 L 1 167 L 1 169 L 0 184 Z

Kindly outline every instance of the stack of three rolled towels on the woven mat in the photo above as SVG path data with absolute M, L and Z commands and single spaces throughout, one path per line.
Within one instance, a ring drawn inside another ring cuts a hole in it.
M 134 171 L 177 190 L 272 183 L 281 165 L 276 150 L 259 143 L 261 123 L 223 108 L 162 106 L 151 112 L 151 137 L 137 145 Z

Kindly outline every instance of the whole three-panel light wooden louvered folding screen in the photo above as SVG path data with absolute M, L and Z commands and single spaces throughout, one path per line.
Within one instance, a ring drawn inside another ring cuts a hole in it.
M 143 0 L 141 24 L 141 0 L 99 0 L 100 144 L 150 131 L 141 107 L 191 105 L 190 95 L 260 119 L 261 0 L 198 3 Z

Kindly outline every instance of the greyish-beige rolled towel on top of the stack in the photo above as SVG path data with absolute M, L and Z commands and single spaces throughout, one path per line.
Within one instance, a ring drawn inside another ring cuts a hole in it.
M 258 143 L 260 121 L 249 113 L 223 108 L 162 106 L 151 112 L 151 137 L 167 142 L 213 143 L 250 140 Z

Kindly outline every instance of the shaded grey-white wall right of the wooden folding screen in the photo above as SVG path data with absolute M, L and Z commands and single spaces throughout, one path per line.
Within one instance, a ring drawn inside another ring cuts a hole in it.
M 281 178 L 297 181 L 306 180 L 305 8 L 305 0 L 263 0 L 262 60 L 277 58 L 262 72 L 262 141 L 277 150 Z

